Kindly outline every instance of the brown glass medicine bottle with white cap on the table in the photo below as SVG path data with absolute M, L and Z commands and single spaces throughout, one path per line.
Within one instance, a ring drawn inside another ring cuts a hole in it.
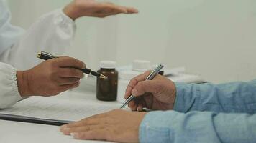
M 117 96 L 118 71 L 116 62 L 101 61 L 99 73 L 104 74 L 108 79 L 97 78 L 96 97 L 102 101 L 115 101 Z

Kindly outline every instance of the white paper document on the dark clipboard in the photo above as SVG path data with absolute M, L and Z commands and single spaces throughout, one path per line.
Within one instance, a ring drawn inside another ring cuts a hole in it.
M 14 114 L 42 119 L 78 121 L 94 114 L 118 109 L 117 102 L 72 101 L 55 97 L 29 97 L 0 114 Z

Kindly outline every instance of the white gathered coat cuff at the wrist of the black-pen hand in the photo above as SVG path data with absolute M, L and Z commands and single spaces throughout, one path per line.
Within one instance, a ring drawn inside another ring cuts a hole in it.
M 17 69 L 0 62 L 0 109 L 11 107 L 22 99 L 17 87 Z

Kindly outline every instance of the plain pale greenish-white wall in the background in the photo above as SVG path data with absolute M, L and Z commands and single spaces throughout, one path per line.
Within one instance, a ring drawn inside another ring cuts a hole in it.
M 40 15 L 68 0 L 8 0 L 12 23 L 27 29 Z M 256 79 L 255 0 L 116 0 L 137 15 L 78 19 L 67 55 L 98 69 L 102 59 L 129 64 L 148 59 L 186 66 L 211 82 Z

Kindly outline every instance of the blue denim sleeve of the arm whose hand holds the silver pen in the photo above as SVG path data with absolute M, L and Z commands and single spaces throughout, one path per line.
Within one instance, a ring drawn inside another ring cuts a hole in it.
M 226 84 L 175 83 L 178 112 L 256 112 L 256 80 Z

